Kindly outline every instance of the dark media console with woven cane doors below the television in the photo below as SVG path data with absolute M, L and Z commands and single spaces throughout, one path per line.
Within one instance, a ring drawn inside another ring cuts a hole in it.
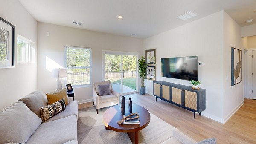
M 192 89 L 191 86 L 169 83 L 166 81 L 154 81 L 154 96 L 161 100 L 175 104 L 194 112 L 205 110 L 205 89 Z

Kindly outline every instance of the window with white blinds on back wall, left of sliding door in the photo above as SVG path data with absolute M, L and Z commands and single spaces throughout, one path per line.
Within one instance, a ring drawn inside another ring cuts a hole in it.
M 91 49 L 65 46 L 67 84 L 91 84 Z

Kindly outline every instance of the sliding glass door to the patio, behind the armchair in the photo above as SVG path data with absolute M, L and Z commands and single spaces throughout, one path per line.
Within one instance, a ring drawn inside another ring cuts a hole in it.
M 137 92 L 137 55 L 105 52 L 105 80 L 122 95 Z

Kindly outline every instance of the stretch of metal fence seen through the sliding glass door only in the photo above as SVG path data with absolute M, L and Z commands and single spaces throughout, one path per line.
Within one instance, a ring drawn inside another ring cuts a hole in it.
M 135 78 L 136 71 L 123 71 L 123 75 L 121 75 L 121 71 L 113 71 L 113 70 L 105 70 L 105 79 L 111 78 Z

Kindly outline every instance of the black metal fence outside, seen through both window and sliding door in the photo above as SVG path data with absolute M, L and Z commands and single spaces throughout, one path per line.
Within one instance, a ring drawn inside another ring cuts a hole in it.
M 123 71 L 123 78 L 136 78 L 136 71 Z M 121 78 L 121 71 L 105 70 L 105 79 Z M 90 83 L 90 71 L 67 73 L 67 84 Z

